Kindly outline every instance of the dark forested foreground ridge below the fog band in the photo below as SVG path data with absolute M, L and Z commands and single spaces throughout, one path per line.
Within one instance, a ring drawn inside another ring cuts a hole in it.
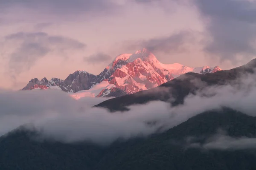
M 204 144 L 219 129 L 234 138 L 255 138 L 256 118 L 227 108 L 209 111 L 165 133 L 108 147 L 86 142 L 36 142 L 33 132 L 15 130 L 0 138 L 0 170 L 255 170 L 256 147 L 188 147 L 188 137 Z

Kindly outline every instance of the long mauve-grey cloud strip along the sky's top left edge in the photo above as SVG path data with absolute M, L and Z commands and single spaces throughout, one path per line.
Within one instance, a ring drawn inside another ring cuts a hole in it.
M 0 9 L 29 8 L 51 14 L 106 14 L 118 9 L 111 0 L 0 0 Z

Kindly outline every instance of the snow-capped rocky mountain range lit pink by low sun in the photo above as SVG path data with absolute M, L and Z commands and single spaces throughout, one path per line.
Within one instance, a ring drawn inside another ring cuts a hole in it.
M 220 70 L 218 66 L 190 68 L 179 63 L 163 64 L 143 48 L 134 54 L 117 56 L 99 75 L 76 71 L 58 83 L 52 79 L 48 82 L 46 78 L 41 81 L 32 79 L 22 90 L 61 89 L 76 99 L 84 96 L 116 97 L 157 87 L 188 72 L 207 74 Z

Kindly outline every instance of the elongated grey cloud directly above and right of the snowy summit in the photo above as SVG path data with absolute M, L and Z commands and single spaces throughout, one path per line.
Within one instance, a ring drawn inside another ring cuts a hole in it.
M 196 41 L 195 33 L 190 31 L 180 31 L 168 37 L 156 37 L 149 40 L 129 42 L 125 45 L 128 50 L 147 48 L 152 52 L 162 52 L 170 54 L 173 52 L 183 52 L 188 50 L 186 45 Z

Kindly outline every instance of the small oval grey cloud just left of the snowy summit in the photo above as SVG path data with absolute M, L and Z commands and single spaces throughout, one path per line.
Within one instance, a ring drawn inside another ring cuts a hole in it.
M 88 62 L 90 64 L 97 64 L 102 62 L 109 62 L 111 59 L 112 57 L 108 54 L 98 53 L 90 55 L 88 57 L 84 57 L 84 62 Z

